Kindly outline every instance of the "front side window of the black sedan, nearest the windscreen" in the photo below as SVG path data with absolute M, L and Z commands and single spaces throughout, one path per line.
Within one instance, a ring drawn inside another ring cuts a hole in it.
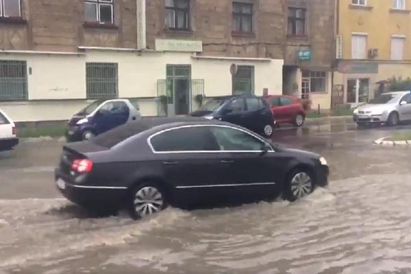
M 262 140 L 232 127 L 212 127 L 212 133 L 221 151 L 261 151 Z

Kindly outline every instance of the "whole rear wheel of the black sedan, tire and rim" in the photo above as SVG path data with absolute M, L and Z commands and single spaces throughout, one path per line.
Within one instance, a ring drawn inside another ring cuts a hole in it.
M 133 219 L 141 219 L 167 208 L 166 193 L 158 184 L 145 182 L 133 188 L 129 197 L 129 212 Z

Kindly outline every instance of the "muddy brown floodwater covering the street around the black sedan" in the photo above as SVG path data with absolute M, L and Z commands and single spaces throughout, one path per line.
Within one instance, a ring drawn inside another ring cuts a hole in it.
M 63 142 L 0 154 L 0 273 L 411 273 L 408 147 L 345 119 L 284 128 L 274 140 L 323 155 L 329 188 L 289 203 L 96 218 L 53 182 Z

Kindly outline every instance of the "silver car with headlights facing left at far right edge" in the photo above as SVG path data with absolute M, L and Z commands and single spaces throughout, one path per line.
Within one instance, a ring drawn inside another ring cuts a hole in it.
M 358 125 L 379 123 L 390 126 L 411 120 L 411 92 L 397 91 L 382 93 L 369 103 L 354 110 L 353 120 Z

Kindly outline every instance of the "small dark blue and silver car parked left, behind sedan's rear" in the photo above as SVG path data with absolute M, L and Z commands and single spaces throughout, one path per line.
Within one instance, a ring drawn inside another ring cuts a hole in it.
M 97 100 L 69 121 L 67 142 L 88 140 L 129 121 L 141 119 L 138 106 L 128 99 Z

